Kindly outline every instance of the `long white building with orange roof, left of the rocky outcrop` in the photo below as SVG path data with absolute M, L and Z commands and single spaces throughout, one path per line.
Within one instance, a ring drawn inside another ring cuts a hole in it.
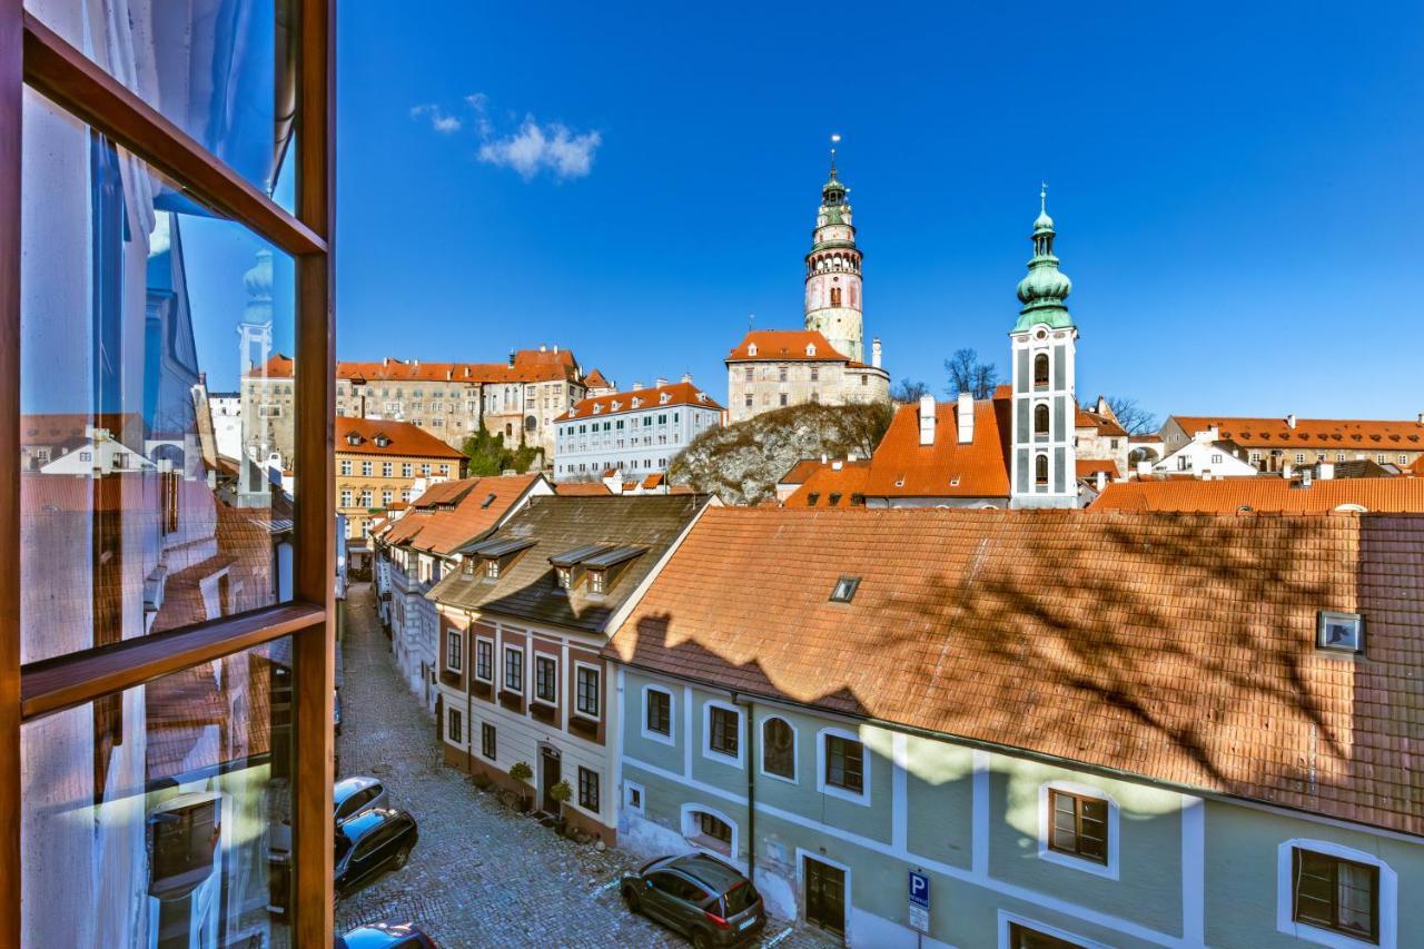
M 554 480 L 665 472 L 692 439 L 718 425 L 722 406 L 692 376 L 584 399 L 554 423 Z

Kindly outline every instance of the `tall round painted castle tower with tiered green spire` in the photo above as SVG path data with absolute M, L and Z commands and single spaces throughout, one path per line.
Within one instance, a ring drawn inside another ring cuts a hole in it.
M 832 135 L 830 142 L 830 177 L 820 188 L 820 209 L 806 255 L 806 329 L 819 331 L 837 352 L 864 362 L 862 254 L 846 199 L 850 190 L 836 171 L 840 135 Z

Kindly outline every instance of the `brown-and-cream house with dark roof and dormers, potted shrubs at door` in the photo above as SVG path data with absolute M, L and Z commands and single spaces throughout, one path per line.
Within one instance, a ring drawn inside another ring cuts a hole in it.
M 429 593 L 440 611 L 446 764 L 617 841 L 618 695 L 608 631 L 706 497 L 537 497 Z M 510 777 L 524 762 L 528 784 Z M 561 808 L 551 791 L 568 782 Z

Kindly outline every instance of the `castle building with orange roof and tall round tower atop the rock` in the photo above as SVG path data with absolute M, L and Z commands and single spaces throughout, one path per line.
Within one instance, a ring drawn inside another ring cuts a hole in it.
M 880 341 L 864 359 L 862 259 L 850 222 L 849 190 L 836 177 L 820 190 L 820 208 L 806 255 L 805 329 L 750 331 L 728 353 L 728 418 L 745 422 L 762 412 L 819 402 L 887 402 L 890 373 L 880 368 Z

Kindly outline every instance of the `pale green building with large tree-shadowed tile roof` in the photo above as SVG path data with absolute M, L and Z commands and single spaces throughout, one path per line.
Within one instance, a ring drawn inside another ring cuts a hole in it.
M 1401 530 L 1424 524 L 708 512 L 605 650 L 619 842 L 731 861 L 849 945 L 1413 945 L 1424 825 L 1394 795 L 1417 779 L 1374 750 L 1417 712 L 1350 684 L 1408 675 L 1418 553 L 1353 540 Z

